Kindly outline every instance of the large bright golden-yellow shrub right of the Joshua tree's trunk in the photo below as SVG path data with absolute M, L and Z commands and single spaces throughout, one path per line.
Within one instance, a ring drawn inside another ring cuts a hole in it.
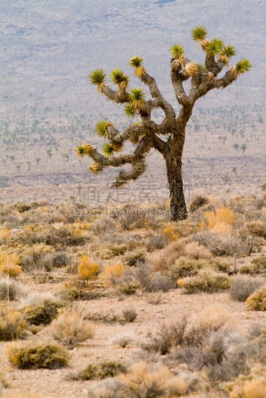
M 214 211 L 206 211 L 204 218 L 209 229 L 215 229 L 217 232 L 226 235 L 231 233 L 232 225 L 235 222 L 235 213 L 230 207 L 220 207 L 217 208 L 216 213 Z M 205 226 L 204 221 L 201 221 L 199 226 L 203 229 Z

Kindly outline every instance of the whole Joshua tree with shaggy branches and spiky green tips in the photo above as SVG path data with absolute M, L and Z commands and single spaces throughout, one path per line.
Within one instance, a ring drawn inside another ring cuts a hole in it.
M 231 67 L 223 77 L 217 75 L 224 67 L 229 66 L 229 59 L 236 54 L 235 48 L 230 44 L 224 44 L 223 40 L 215 37 L 208 40 L 205 26 L 195 26 L 191 30 L 192 40 L 197 42 L 205 53 L 205 63 L 191 62 L 184 55 L 180 44 L 173 44 L 170 48 L 172 59 L 170 62 L 171 79 L 174 86 L 177 102 L 181 106 L 176 115 L 171 104 L 160 93 L 156 81 L 143 66 L 143 58 L 135 55 L 130 59 L 130 66 L 135 69 L 141 83 L 148 86 L 151 99 L 145 99 L 142 88 L 133 88 L 129 91 L 129 77 L 119 68 L 110 73 L 110 81 L 118 86 L 118 90 L 112 90 L 105 81 L 106 74 L 102 69 L 96 69 L 88 76 L 90 83 L 97 86 L 97 90 L 109 100 L 124 105 L 127 116 L 140 116 L 139 123 L 130 124 L 124 131 L 119 132 L 115 126 L 107 120 L 100 120 L 95 127 L 96 133 L 108 139 L 109 143 L 103 146 L 103 155 L 93 149 L 89 143 L 83 143 L 77 147 L 79 156 L 89 155 L 94 161 L 90 166 L 93 174 L 101 172 L 109 166 L 120 167 L 131 164 L 129 171 L 121 170 L 115 178 L 112 187 L 122 187 L 130 180 L 137 180 L 146 169 L 145 160 L 151 148 L 160 152 L 166 162 L 167 178 L 170 188 L 171 211 L 173 219 L 186 218 L 187 210 L 183 195 L 183 182 L 181 171 L 181 158 L 185 139 L 185 126 L 188 122 L 195 101 L 205 96 L 210 90 L 229 86 L 239 75 L 251 68 L 251 63 L 242 58 Z M 186 95 L 182 82 L 190 79 L 191 88 Z M 151 120 L 151 112 L 155 108 L 162 108 L 165 118 L 161 124 Z M 163 140 L 159 136 L 165 136 Z M 133 154 L 121 154 L 113 157 L 115 152 L 120 152 L 123 143 L 130 140 L 137 147 Z

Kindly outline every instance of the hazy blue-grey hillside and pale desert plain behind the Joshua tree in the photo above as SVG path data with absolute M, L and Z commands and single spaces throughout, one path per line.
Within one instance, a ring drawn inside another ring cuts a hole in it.
M 210 37 L 222 36 L 254 64 L 249 74 L 224 91 L 197 101 L 187 127 L 183 174 L 193 190 L 215 195 L 255 193 L 266 182 L 265 11 L 264 1 L 231 0 L 16 0 L 1 1 L 1 201 L 69 199 L 75 181 L 88 180 L 89 158 L 73 148 L 83 140 L 101 146 L 93 126 L 99 118 L 119 128 L 128 123 L 120 105 L 95 94 L 86 76 L 95 68 L 119 66 L 130 73 L 130 57 L 145 57 L 149 73 L 178 111 L 172 88 L 169 47 L 184 45 L 187 56 L 203 61 L 189 30 L 205 24 Z M 186 84 L 188 90 L 188 84 Z M 155 120 L 162 118 L 154 112 Z M 133 148 L 126 146 L 126 150 Z M 99 181 L 105 199 L 105 182 Z M 163 160 L 152 153 L 143 179 L 161 181 Z M 138 198 L 132 184 L 130 199 Z

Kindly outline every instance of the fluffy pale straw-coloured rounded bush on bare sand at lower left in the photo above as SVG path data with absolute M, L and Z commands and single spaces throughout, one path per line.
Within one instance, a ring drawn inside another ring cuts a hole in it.
M 57 318 L 51 323 L 51 330 L 56 341 L 74 348 L 93 337 L 95 325 L 81 314 L 66 308 L 59 310 Z

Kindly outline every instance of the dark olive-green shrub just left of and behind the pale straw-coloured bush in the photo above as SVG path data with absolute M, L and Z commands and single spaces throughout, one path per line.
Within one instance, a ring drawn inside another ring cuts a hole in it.
M 37 302 L 29 303 L 23 308 L 25 319 L 34 325 L 48 325 L 57 317 L 58 309 L 64 302 L 52 297 L 40 298 Z

